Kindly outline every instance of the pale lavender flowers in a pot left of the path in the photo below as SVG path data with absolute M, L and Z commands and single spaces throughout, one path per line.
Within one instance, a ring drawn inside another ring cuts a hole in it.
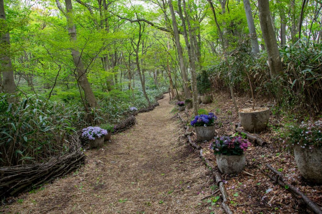
M 104 136 L 107 135 L 106 129 L 99 126 L 89 126 L 83 129 L 82 137 L 88 138 L 91 148 L 101 147 L 104 143 Z

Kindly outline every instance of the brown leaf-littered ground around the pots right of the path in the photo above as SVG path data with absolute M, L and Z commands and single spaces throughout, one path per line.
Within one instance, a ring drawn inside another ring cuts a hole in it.
M 236 99 L 240 108 L 251 107 L 251 100 L 247 97 Z M 315 121 L 309 112 L 299 109 L 289 109 L 288 112 L 280 111 L 274 107 L 270 100 L 258 100 L 257 107 L 270 107 L 270 123 L 267 130 L 259 133 L 260 137 L 268 142 L 265 146 L 251 145 L 245 152 L 245 172 L 238 175 L 222 175 L 225 180 L 230 208 L 235 213 L 308 213 L 305 208 L 300 212 L 298 199 L 288 190 L 279 185 L 274 185 L 268 175 L 273 175 L 265 166 L 267 163 L 279 172 L 284 179 L 306 194 L 318 206 L 322 207 L 322 185 L 306 181 L 300 174 L 292 150 L 288 149 L 281 139 L 285 133 L 285 125 L 290 122 L 301 122 L 305 118 Z M 239 123 L 238 116 L 234 113 L 231 98 L 227 94 L 214 94 L 214 101 L 210 104 L 200 104 L 199 108 L 214 112 L 218 117 L 216 124 L 217 135 L 235 134 L 235 124 Z M 186 121 L 193 116 L 193 109 L 186 109 L 179 113 Z M 189 132 L 194 132 L 190 127 Z M 198 143 L 196 136 L 192 140 L 203 148 L 203 155 L 214 166 L 216 157 L 210 150 L 209 142 Z M 218 169 L 218 168 L 217 168 Z M 219 169 L 218 169 L 219 170 Z M 247 173 L 251 174 L 247 174 Z M 210 201 L 208 201 L 211 203 Z

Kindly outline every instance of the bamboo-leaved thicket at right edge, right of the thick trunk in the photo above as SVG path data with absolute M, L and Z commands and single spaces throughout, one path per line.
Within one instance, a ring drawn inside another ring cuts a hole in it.
M 302 104 L 322 108 L 322 43 L 307 39 L 280 50 L 286 81 L 286 104 Z

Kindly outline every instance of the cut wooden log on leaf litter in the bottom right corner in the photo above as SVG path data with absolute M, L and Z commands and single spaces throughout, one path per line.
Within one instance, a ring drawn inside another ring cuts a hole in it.
M 304 193 L 302 193 L 299 189 L 297 189 L 296 187 L 294 187 L 292 184 L 289 184 L 288 182 L 286 182 L 283 179 L 283 174 L 278 172 L 276 169 L 274 169 L 273 167 L 271 167 L 269 164 L 266 164 L 266 166 L 276 175 L 278 175 L 278 179 L 277 179 L 277 183 L 282 186 L 283 188 L 285 188 L 286 186 L 288 186 L 287 189 L 289 192 L 299 196 L 307 205 L 308 208 L 310 210 L 312 210 L 314 213 L 316 214 L 322 214 L 322 210 L 320 207 L 318 207 L 313 201 L 311 201 L 311 199 L 308 198 L 308 196 L 306 196 Z M 276 178 L 269 175 L 270 179 L 275 181 Z

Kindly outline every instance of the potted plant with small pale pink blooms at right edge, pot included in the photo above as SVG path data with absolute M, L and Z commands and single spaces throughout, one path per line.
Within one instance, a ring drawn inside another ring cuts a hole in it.
M 322 120 L 289 126 L 286 141 L 303 177 L 322 184 Z

